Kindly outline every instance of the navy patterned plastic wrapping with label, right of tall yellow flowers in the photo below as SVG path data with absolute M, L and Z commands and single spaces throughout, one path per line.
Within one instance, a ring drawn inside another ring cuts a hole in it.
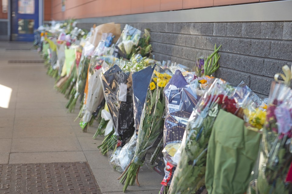
M 164 88 L 165 122 L 163 154 L 167 162 L 176 166 L 172 157 L 180 147 L 182 137 L 193 109 L 200 96 L 196 94 L 198 82 L 189 84 L 180 70 L 170 79 Z

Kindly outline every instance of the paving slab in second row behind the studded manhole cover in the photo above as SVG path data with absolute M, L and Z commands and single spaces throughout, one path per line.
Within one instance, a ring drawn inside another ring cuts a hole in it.
M 12 152 L 82 151 L 75 137 L 13 138 Z

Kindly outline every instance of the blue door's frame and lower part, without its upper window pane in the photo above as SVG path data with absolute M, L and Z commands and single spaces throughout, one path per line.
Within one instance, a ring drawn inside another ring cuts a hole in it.
M 11 0 L 11 40 L 32 42 L 34 30 L 39 27 L 39 0 L 35 0 L 33 14 L 21 14 L 19 0 Z M 34 22 L 34 24 L 33 24 Z

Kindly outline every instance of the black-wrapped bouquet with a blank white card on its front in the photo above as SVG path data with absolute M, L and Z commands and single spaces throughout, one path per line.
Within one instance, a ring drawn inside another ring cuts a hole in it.
M 112 149 L 115 145 L 123 146 L 134 132 L 132 73 L 125 73 L 118 65 L 114 65 L 101 75 L 101 79 L 115 134 L 110 138 L 105 137 L 108 141 L 99 148 Z

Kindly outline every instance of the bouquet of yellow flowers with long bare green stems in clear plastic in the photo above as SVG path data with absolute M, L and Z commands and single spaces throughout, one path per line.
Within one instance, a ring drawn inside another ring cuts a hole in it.
M 134 185 L 135 177 L 137 181 L 137 174 L 144 163 L 146 152 L 153 146 L 162 131 L 164 123 L 162 115 L 165 110 L 163 89 L 171 77 L 172 73 L 169 70 L 163 70 L 159 66 L 155 67 L 141 114 L 135 155 L 132 162 L 119 177 L 121 179 L 120 182 L 125 183 L 124 192 L 127 190 L 128 185 Z M 138 181 L 137 184 L 139 185 Z

